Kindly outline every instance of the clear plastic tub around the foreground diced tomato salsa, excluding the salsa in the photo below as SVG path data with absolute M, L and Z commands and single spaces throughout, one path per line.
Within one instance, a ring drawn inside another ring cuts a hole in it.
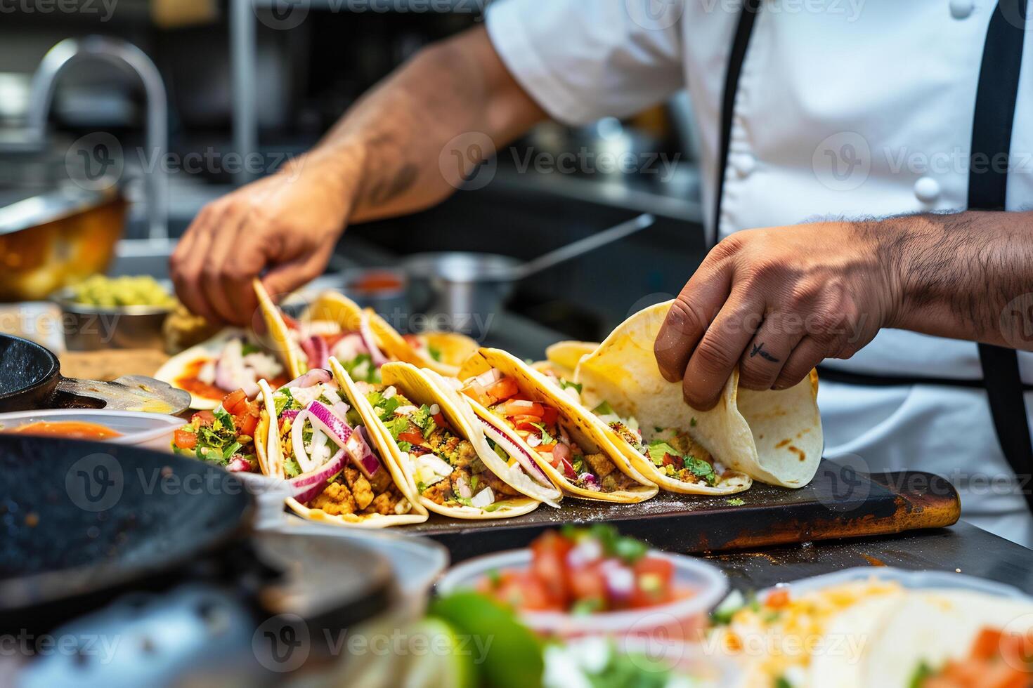
M 710 611 L 724 597 L 728 581 L 717 567 L 681 554 L 650 550 L 650 557 L 669 560 L 675 566 L 675 586 L 691 594 L 666 604 L 637 610 L 571 614 L 568 612 L 520 611 L 520 619 L 541 635 L 574 638 L 608 635 L 625 641 L 680 644 L 701 637 Z M 453 568 L 438 582 L 439 594 L 473 590 L 495 572 L 527 570 L 531 550 L 510 550 L 470 559 Z

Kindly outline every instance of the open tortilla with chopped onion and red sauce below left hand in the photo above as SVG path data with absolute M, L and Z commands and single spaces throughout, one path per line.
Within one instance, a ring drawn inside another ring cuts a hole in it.
M 291 378 L 279 351 L 267 349 L 253 333 L 239 328 L 226 328 L 177 354 L 154 376 L 190 392 L 191 408 L 207 411 L 238 389 L 255 398 L 259 380 L 279 387 Z

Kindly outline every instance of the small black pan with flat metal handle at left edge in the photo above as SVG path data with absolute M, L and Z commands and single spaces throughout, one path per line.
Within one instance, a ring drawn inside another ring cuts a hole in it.
M 190 405 L 190 393 L 142 375 L 114 382 L 74 380 L 61 375 L 58 357 L 34 341 L 0 334 L 0 413 L 36 408 L 158 408 L 179 414 Z

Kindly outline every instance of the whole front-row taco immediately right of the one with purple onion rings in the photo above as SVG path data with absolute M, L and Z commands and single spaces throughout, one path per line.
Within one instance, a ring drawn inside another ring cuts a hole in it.
M 337 364 L 331 361 L 331 365 Z M 460 519 L 527 514 L 560 491 L 529 456 L 493 441 L 436 373 L 388 363 L 382 385 L 356 384 L 359 413 L 376 426 L 409 488 L 430 511 Z

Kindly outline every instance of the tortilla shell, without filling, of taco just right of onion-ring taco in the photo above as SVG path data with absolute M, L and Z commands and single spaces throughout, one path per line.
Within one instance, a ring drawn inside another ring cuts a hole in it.
M 331 367 L 334 370 L 335 375 L 340 374 L 339 370 L 340 372 L 344 372 L 341 364 L 333 357 L 331 358 Z M 558 498 L 558 491 L 552 492 L 541 490 L 541 488 L 533 485 L 530 479 L 523 474 L 520 478 L 516 478 L 514 476 L 514 471 L 518 471 L 518 469 L 510 468 L 501 457 L 492 451 L 492 449 L 488 446 L 487 439 L 484 439 L 483 431 L 481 431 L 479 427 L 474 428 L 471 426 L 468 417 L 465 416 L 456 404 L 456 399 L 446 395 L 434 382 L 432 382 L 426 372 L 419 370 L 410 363 L 387 363 L 380 369 L 380 375 L 385 387 L 394 386 L 403 396 L 412 401 L 412 403 L 427 405 L 438 404 L 441 408 L 441 414 L 444 416 L 445 420 L 448 421 L 448 425 L 451 426 L 460 437 L 469 440 L 470 444 L 473 445 L 474 450 L 477 452 L 477 456 L 484 462 L 484 465 L 510 487 L 524 493 L 525 495 L 528 492 L 535 493 L 536 490 L 533 488 L 538 488 L 538 491 L 541 491 L 550 498 Z M 432 501 L 431 499 L 427 499 L 426 497 L 419 495 L 419 492 L 416 489 L 415 469 L 409 454 L 399 449 L 398 444 L 390 436 L 390 432 L 388 432 L 387 428 L 385 428 L 383 423 L 380 422 L 380 419 L 373 411 L 373 407 L 370 406 L 369 401 L 365 396 L 356 393 L 355 401 L 355 408 L 357 408 L 359 415 L 362 415 L 363 420 L 366 422 L 366 426 L 368 428 L 375 427 L 377 429 L 382 444 L 386 446 L 389 451 L 389 456 L 394 459 L 396 465 L 399 466 L 401 472 L 404 474 L 405 481 L 409 487 L 409 492 L 416 495 L 419 503 L 428 510 L 457 519 L 505 519 L 533 512 L 538 507 L 538 504 L 541 503 L 539 499 L 531 496 L 500 499 L 493 504 L 493 506 L 497 505 L 497 509 L 489 512 L 476 506 L 444 506 Z

